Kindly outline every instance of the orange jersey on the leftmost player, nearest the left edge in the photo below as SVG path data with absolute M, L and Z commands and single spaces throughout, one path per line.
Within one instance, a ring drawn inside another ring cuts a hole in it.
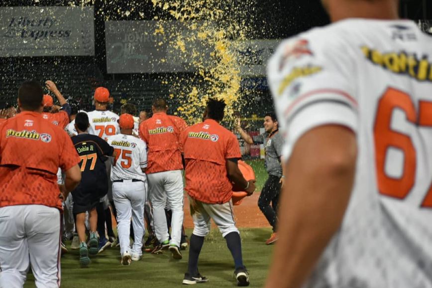
M 0 207 L 62 208 L 57 170 L 80 162 L 70 137 L 39 113 L 21 112 L 0 124 Z

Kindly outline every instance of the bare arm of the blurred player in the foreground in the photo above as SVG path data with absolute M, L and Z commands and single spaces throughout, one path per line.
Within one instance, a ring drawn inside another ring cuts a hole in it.
M 357 145 L 342 126 L 314 128 L 286 165 L 279 241 L 266 288 L 300 288 L 338 230 L 353 185 Z

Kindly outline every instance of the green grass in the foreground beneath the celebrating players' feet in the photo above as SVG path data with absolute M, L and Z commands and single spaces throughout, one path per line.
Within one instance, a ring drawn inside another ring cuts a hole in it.
M 188 235 L 191 233 L 191 230 L 187 231 Z M 264 285 L 273 249 L 264 241 L 270 233 L 271 229 L 241 229 L 243 261 L 250 273 L 250 287 Z M 180 261 L 173 260 L 168 251 L 162 255 L 144 253 L 141 261 L 121 266 L 119 248 L 111 248 L 93 257 L 88 268 L 80 268 L 78 251 L 69 250 L 61 260 L 62 288 L 180 287 L 187 270 L 188 253 L 189 250 L 183 251 Z M 236 287 L 231 254 L 217 229 L 213 229 L 206 238 L 199 269 L 209 278 L 209 282 L 200 284 L 200 287 Z M 34 287 L 33 275 L 28 275 L 24 287 Z

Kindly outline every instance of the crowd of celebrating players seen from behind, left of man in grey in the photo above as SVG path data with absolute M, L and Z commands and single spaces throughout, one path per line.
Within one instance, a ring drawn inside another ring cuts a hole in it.
M 210 99 L 204 123 L 188 128 L 167 115 L 163 99 L 153 102 L 151 118 L 138 119 L 126 113 L 136 114 L 131 104 L 122 106 L 120 116 L 109 111 L 104 87 L 95 90 L 96 110 L 84 112 L 68 104 L 52 81 L 45 84 L 59 106 L 38 82 L 25 82 L 18 90 L 19 113 L 0 123 L 0 287 L 22 287 L 29 264 L 38 287 L 58 287 L 60 255 L 67 251 L 59 240 L 74 232 L 72 248 L 79 249 L 83 267 L 116 242 L 122 265 L 139 261 L 145 222 L 152 253 L 169 250 L 182 259 L 188 246 L 183 169 L 195 224 L 183 284 L 208 281 L 198 272 L 198 258 L 213 219 L 232 254 L 237 285 L 249 285 L 231 195 L 232 183 L 252 194 L 255 180 L 241 174 L 237 139 L 219 124 L 223 101 Z

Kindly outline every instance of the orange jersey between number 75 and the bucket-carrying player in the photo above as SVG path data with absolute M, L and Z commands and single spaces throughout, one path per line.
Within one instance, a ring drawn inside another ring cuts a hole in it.
M 146 173 L 183 169 L 179 137 L 188 125 L 180 117 L 154 113 L 139 125 L 139 137 L 147 143 Z

